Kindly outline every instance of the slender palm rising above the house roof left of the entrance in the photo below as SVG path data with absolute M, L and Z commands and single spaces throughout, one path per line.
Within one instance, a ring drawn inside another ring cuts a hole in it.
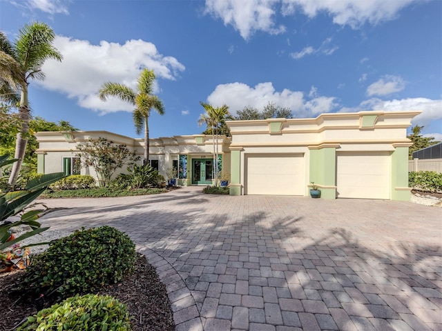
M 151 109 L 155 109 L 158 114 L 164 115 L 164 106 L 160 98 L 152 94 L 155 73 L 153 70 L 144 68 L 137 79 L 137 90 L 133 90 L 124 84 L 104 83 L 99 89 L 99 99 L 106 101 L 106 97 L 117 97 L 135 106 L 133 110 L 133 123 L 135 130 L 140 134 L 144 127 L 144 161 L 143 165 L 149 163 L 149 126 L 148 118 Z

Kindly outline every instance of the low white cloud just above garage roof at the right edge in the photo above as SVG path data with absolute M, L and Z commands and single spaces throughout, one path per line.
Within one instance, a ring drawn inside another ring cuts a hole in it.
M 342 112 L 358 112 L 361 110 L 383 110 L 386 112 L 398 111 L 422 111 L 421 114 L 414 117 L 412 123 L 419 126 L 426 126 L 432 121 L 442 119 L 442 99 L 432 100 L 427 98 L 408 98 L 401 100 L 381 100 L 377 98 L 363 101 L 356 108 L 343 108 Z

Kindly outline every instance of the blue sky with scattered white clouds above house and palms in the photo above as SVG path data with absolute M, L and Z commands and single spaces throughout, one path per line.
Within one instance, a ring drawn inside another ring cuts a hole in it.
M 10 40 L 32 21 L 64 55 L 31 83 L 32 112 L 80 130 L 137 137 L 131 106 L 97 90 L 149 68 L 166 110 L 151 114 L 151 138 L 202 132 L 206 101 L 233 114 L 272 102 L 298 118 L 422 110 L 413 123 L 442 139 L 440 0 L 0 0 Z

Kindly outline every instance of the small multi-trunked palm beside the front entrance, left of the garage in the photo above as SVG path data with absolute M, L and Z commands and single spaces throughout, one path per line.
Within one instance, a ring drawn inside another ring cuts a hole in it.
M 233 119 L 229 113 L 229 107 L 225 104 L 218 108 L 213 108 L 209 103 L 200 102 L 201 106 L 206 110 L 206 114 L 201 114 L 198 124 L 201 126 L 203 123 L 207 127 L 211 127 L 212 141 L 213 141 L 213 168 L 215 185 L 218 185 L 218 134 L 220 127 L 226 123 L 227 119 Z M 216 144 L 215 144 L 216 141 Z M 216 145 L 216 148 L 215 148 Z

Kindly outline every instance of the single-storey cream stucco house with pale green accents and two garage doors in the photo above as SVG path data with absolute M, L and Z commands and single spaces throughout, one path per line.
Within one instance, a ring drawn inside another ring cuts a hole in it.
M 213 144 L 220 167 L 231 174 L 230 194 L 309 194 L 316 183 L 324 199 L 408 201 L 407 128 L 420 112 L 320 114 L 312 119 L 228 121 L 231 137 L 211 135 L 151 139 L 151 165 L 178 171 L 180 185 L 210 185 Z M 76 144 L 104 137 L 142 156 L 142 139 L 106 131 L 37 132 L 38 171 L 91 174 L 75 157 Z

